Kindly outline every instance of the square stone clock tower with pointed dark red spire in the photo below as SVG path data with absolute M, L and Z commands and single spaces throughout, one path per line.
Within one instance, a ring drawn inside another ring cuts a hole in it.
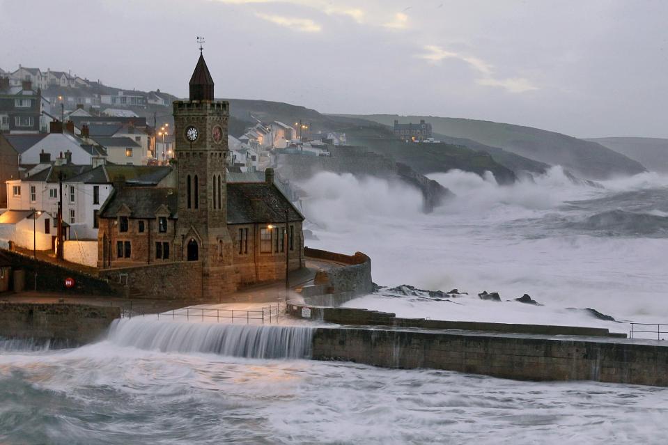
M 203 263 L 203 286 L 231 265 L 227 229 L 229 102 L 215 100 L 213 79 L 201 53 L 190 79 L 189 100 L 173 102 L 174 153 L 178 173 L 177 258 Z M 215 295 L 210 293 L 209 295 Z

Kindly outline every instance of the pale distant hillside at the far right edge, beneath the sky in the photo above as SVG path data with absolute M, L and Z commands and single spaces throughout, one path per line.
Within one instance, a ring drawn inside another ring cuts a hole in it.
M 651 137 L 604 137 L 585 139 L 621 153 L 648 170 L 668 173 L 668 139 Z

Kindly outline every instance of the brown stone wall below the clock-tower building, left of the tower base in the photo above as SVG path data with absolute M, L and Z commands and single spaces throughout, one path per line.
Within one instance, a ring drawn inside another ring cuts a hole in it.
M 100 270 L 100 276 L 125 286 L 135 297 L 202 299 L 202 263 L 178 261 Z

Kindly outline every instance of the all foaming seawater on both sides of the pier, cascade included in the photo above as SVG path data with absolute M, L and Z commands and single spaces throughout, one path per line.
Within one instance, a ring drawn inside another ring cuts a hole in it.
M 387 286 L 348 305 L 616 331 L 668 322 L 668 177 L 432 178 L 457 195 L 432 214 L 401 184 L 320 173 L 302 185 L 307 244 L 368 253 Z M 402 284 L 468 295 L 389 290 Z M 543 306 L 512 301 L 524 293 Z M 310 334 L 134 318 L 72 350 L 0 341 L 0 444 L 666 443 L 668 389 L 309 361 Z

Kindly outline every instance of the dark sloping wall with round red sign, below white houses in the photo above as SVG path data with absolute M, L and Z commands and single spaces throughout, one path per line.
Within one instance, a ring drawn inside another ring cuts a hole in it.
M 92 276 L 47 261 L 36 260 L 31 256 L 2 249 L 3 255 L 10 258 L 13 270 L 23 270 L 26 290 L 47 292 L 66 292 L 83 295 L 118 295 L 118 290 L 107 280 Z M 75 286 L 65 288 L 65 278 L 75 279 Z

